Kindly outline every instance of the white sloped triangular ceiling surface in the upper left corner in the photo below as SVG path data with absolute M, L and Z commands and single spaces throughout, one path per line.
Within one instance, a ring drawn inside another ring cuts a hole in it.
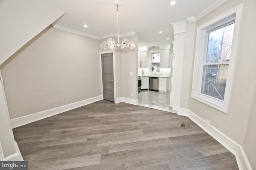
M 1 0 L 0 64 L 64 13 L 33 0 Z

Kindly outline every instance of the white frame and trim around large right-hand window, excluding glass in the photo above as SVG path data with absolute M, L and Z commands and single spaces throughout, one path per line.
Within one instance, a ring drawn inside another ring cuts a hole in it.
M 231 10 L 225 12 L 224 14 L 210 20 L 197 28 L 197 39 L 196 39 L 196 51 L 195 51 L 195 61 L 194 61 L 194 74 L 193 74 L 193 84 L 192 84 L 192 94 L 191 97 L 214 107 L 224 113 L 228 111 L 228 103 L 230 98 L 230 91 L 233 80 L 234 64 L 236 61 L 236 53 L 238 49 L 238 40 L 240 33 L 240 25 L 242 19 L 242 8 L 243 4 L 232 8 Z M 230 61 L 228 67 L 228 75 L 225 88 L 224 100 L 218 100 L 201 93 L 202 88 L 202 78 L 203 78 L 203 62 L 206 54 L 206 46 L 208 44 L 208 39 L 206 39 L 206 34 L 209 30 L 214 29 L 220 25 L 224 25 L 232 20 L 235 20 L 234 33 L 232 39 L 232 49 L 230 54 Z

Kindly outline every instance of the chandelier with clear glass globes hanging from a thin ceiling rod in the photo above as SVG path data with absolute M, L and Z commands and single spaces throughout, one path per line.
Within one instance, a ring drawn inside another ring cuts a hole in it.
M 122 40 L 122 43 L 119 44 L 119 24 L 118 24 L 118 7 L 121 6 L 121 4 L 119 2 L 115 3 L 116 6 L 116 11 L 117 11 L 117 39 L 118 39 L 118 43 L 115 43 L 115 40 L 112 38 L 109 38 L 107 41 L 103 41 L 101 43 L 101 47 L 103 49 L 110 49 L 112 51 L 114 51 L 116 49 L 116 47 L 121 47 L 122 50 L 127 50 L 129 49 L 134 49 L 135 48 L 135 43 L 133 41 L 129 41 L 129 39 L 125 38 Z

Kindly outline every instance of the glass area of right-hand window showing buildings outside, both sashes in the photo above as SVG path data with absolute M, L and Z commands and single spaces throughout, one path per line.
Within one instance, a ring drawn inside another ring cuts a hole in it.
M 208 32 L 201 93 L 219 100 L 224 100 L 233 32 L 234 21 Z

